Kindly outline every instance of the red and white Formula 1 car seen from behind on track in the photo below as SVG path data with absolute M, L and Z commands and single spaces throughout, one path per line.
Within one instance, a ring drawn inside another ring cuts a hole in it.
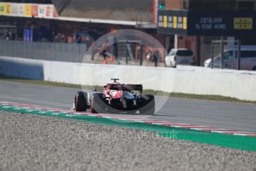
M 78 91 L 74 97 L 74 109 L 77 112 L 92 113 L 133 113 L 154 114 L 155 98 L 151 94 L 142 94 L 141 84 L 121 84 L 114 80 L 103 86 L 103 91 Z

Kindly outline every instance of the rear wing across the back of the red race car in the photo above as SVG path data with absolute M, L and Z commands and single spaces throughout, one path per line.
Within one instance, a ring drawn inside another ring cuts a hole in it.
M 107 88 L 121 91 L 141 91 L 141 93 L 143 90 L 141 84 L 107 84 Z

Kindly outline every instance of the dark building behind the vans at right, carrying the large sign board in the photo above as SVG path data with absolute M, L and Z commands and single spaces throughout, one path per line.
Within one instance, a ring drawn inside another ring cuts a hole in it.
M 176 48 L 191 48 L 197 65 L 210 57 L 211 40 L 240 39 L 256 45 L 255 0 L 165 0 L 158 12 L 158 33 L 175 36 Z

